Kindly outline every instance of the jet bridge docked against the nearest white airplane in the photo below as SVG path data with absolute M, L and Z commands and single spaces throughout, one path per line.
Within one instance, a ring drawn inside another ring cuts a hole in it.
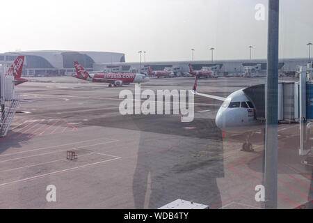
M 313 140 L 310 131 L 313 128 L 313 68 L 299 67 L 299 82 L 278 83 L 278 122 L 298 122 L 300 124 L 299 155 L 312 154 Z M 247 98 L 255 106 L 255 118 L 265 120 L 266 84 L 258 84 L 243 89 Z M 307 158 L 312 163 L 312 155 Z M 309 163 L 309 162 L 307 162 Z

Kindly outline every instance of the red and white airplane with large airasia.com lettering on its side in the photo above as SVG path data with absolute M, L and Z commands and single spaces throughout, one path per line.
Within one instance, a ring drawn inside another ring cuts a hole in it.
M 104 73 L 104 74 L 89 74 L 79 62 L 74 61 L 74 66 L 77 71 L 76 75 L 72 75 L 72 77 L 76 77 L 78 79 L 83 79 L 89 82 L 99 82 L 99 83 L 109 83 L 109 87 L 111 86 L 122 86 L 123 84 L 129 83 L 141 83 L 141 82 L 149 82 L 150 78 L 145 77 L 145 75 L 136 74 L 136 73 Z

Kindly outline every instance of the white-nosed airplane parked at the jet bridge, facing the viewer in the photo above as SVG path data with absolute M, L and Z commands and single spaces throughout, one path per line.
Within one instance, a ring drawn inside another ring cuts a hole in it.
M 242 151 L 253 151 L 250 137 L 254 130 L 262 128 L 262 123 L 255 119 L 255 106 L 243 93 L 243 89 L 234 91 L 227 98 L 223 98 L 216 95 L 198 93 L 197 82 L 198 75 L 195 77 L 195 84 L 193 85 L 193 93 L 195 95 L 223 101 L 216 114 L 216 126 L 223 132 L 247 133 Z

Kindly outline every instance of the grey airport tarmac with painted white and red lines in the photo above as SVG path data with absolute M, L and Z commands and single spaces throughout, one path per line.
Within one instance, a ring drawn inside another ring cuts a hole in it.
M 264 78 L 200 79 L 198 91 L 226 97 Z M 190 90 L 193 77 L 154 78 L 141 91 Z M 30 77 L 0 139 L 0 208 L 159 208 L 176 199 L 210 208 L 262 208 L 264 136 L 221 132 L 221 102 L 195 95 L 192 122 L 180 114 L 120 114 L 120 91 L 74 77 Z M 143 102 L 144 100 L 140 101 Z M 182 105 L 182 103 L 179 103 Z M 172 110 L 170 110 L 172 111 Z M 312 208 L 312 169 L 298 155 L 297 123 L 278 127 L 278 208 Z M 67 160 L 74 151 L 77 160 Z M 56 188 L 48 201 L 47 187 Z

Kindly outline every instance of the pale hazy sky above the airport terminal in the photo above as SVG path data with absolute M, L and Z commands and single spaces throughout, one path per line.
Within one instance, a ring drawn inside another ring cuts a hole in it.
M 268 0 L 1 1 L 0 52 L 65 49 L 122 52 L 126 61 L 266 58 Z M 255 6 L 266 7 L 255 20 Z M 280 58 L 306 57 L 312 0 L 280 0 Z M 313 51 L 313 47 L 312 47 Z

